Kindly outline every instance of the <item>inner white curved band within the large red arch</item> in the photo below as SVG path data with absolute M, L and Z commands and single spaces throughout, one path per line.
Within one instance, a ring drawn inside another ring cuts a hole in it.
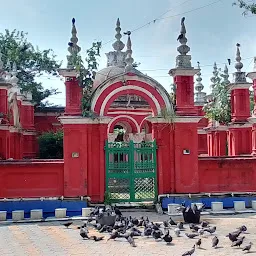
M 145 93 L 148 97 L 152 98 L 155 106 L 156 106 L 156 109 L 157 109 L 157 114 L 161 114 L 161 106 L 159 104 L 159 102 L 157 101 L 157 99 L 155 98 L 155 96 L 150 93 L 149 91 L 147 91 L 146 89 L 144 88 L 141 88 L 139 86 L 134 86 L 134 85 L 127 85 L 127 86 L 122 86 L 122 87 L 119 87 L 115 90 L 113 90 L 111 93 L 108 94 L 108 96 L 104 99 L 102 105 L 101 105 L 101 108 L 100 108 L 100 116 L 104 116 L 104 110 L 106 108 L 106 105 L 108 103 L 108 101 L 110 100 L 110 98 L 112 96 L 114 96 L 115 94 L 119 93 L 119 92 L 122 92 L 122 91 L 125 91 L 125 90 L 129 90 L 129 89 L 133 89 L 133 90 L 136 90 L 136 91 L 140 91 L 140 92 L 143 92 Z M 94 107 L 92 108 L 94 110 Z

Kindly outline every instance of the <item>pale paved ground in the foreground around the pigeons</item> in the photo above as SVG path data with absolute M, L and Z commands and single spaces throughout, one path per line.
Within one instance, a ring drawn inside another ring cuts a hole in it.
M 159 216 L 155 213 L 126 213 L 132 216 L 149 216 L 152 221 L 167 220 L 168 216 Z M 177 218 L 176 218 L 177 219 Z M 256 255 L 256 215 L 234 215 L 225 217 L 208 217 L 203 219 L 210 221 L 217 226 L 217 236 L 220 239 L 220 248 L 211 248 L 212 236 L 202 238 L 202 249 L 197 249 L 194 255 L 243 255 L 241 249 L 231 248 L 230 241 L 225 235 L 233 231 L 236 227 L 245 224 L 248 227 L 248 234 L 245 234 L 244 244 L 250 241 L 254 243 L 251 255 Z M 130 247 L 129 243 L 123 239 L 116 241 L 83 241 L 79 236 L 77 226 L 80 221 L 74 223 L 70 229 L 64 228 L 61 223 L 40 223 L 40 224 L 18 224 L 4 226 L 0 225 L 0 255 L 93 255 L 93 256 L 123 256 L 123 255 L 182 255 L 190 249 L 196 239 L 184 237 L 175 238 L 173 230 L 173 243 L 167 246 L 164 242 L 155 242 L 152 238 L 140 237 L 136 239 L 136 248 Z M 96 232 L 90 230 L 90 234 Z M 109 235 L 106 234 L 106 238 Z

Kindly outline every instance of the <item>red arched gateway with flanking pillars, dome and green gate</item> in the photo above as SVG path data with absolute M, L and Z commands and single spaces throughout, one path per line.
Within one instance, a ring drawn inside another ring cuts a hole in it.
M 66 78 L 67 97 L 66 115 L 61 118 L 65 192 L 69 196 L 88 195 L 99 202 L 104 201 L 104 195 L 112 201 L 146 201 L 184 189 L 196 192 L 200 118 L 195 117 L 193 75 L 197 70 L 174 70 L 177 91 L 184 87 L 186 94 L 177 94 L 180 117 L 170 122 L 168 117 L 174 117 L 174 109 L 169 94 L 134 68 L 130 35 L 123 51 L 119 20 L 116 25 L 114 51 L 106 54 L 107 67 L 97 72 L 92 88 L 91 111 L 97 118 L 81 116 L 82 91 L 75 70 L 60 70 Z M 72 38 L 72 47 L 79 49 L 74 24 Z M 186 153 L 186 160 L 194 160 L 192 172 L 186 176 L 185 151 L 191 152 Z M 175 165 L 176 159 L 179 162 Z

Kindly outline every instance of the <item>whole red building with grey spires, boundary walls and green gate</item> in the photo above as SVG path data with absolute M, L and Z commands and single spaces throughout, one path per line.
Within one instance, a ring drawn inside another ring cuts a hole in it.
M 25 190 L 28 196 L 30 188 L 31 197 L 87 195 L 95 202 L 102 202 L 106 192 L 113 200 L 140 201 L 168 193 L 255 190 L 256 118 L 250 114 L 251 84 L 241 71 L 239 46 L 235 80 L 227 85 L 231 90 L 232 122 L 228 126 L 212 120 L 208 122 L 202 111 L 206 95 L 202 92 L 200 67 L 199 64 L 198 68 L 191 65 L 184 20 L 181 22 L 176 67 L 169 71 L 175 84 L 175 101 L 161 84 L 134 68 L 131 38 L 128 35 L 126 51 L 123 51 L 125 44 L 121 41 L 119 20 L 114 50 L 107 53 L 107 67 L 98 71 L 92 88 L 91 112 L 95 118 L 82 116 L 83 89 L 70 62 L 72 54 L 79 54 L 81 50 L 77 45 L 74 22 L 68 66 L 59 70 L 65 77 L 65 110 L 48 109 L 34 113 L 29 93 L 21 95 L 17 88 L 15 68 L 11 78 L 5 73 L 0 83 L 0 112 L 3 113 L 0 152 L 3 159 L 33 158 L 38 133 L 60 127 L 64 131 L 64 164 L 56 162 L 58 170 L 55 172 L 52 166 L 48 169 L 52 171 L 44 176 L 44 163 L 40 163 L 40 179 L 55 177 L 49 185 L 51 187 L 44 183 L 41 190 L 31 189 L 27 180 L 33 179 L 30 176 L 32 168 L 24 174 L 26 182 L 20 190 L 21 196 Z M 197 83 L 194 86 L 195 75 Z M 249 73 L 248 77 L 255 85 L 256 71 Z M 212 81 L 214 89 L 216 81 Z M 6 118 L 8 104 L 12 104 L 11 121 Z M 117 133 L 117 128 L 123 132 Z M 226 157 L 227 145 L 230 158 Z M 241 158 L 241 155 L 247 158 Z M 14 166 L 10 167 L 6 161 L 2 164 L 8 176 L 8 168 Z M 39 168 L 38 164 L 35 166 Z M 231 174 L 232 168 L 235 171 Z M 249 168 L 246 175 L 241 171 L 245 168 Z M 13 169 L 10 172 L 14 172 Z M 223 180 L 223 176 L 229 178 Z M 18 186 L 17 192 L 19 184 L 15 176 L 11 177 L 10 187 L 13 184 Z M 3 186 L 7 187 L 0 191 L 0 197 L 14 196 L 8 185 Z

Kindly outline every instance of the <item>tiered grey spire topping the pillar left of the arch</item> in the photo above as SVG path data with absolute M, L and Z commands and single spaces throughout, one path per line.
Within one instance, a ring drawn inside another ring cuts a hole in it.
M 70 42 L 68 43 L 68 51 L 70 53 L 69 56 L 67 56 L 68 59 L 68 68 L 74 68 L 74 57 L 77 56 L 77 54 L 81 51 L 81 47 L 79 47 L 77 45 L 78 42 L 78 38 L 77 38 L 77 30 L 76 30 L 76 26 L 75 26 L 76 20 L 75 18 L 72 19 L 72 30 L 71 30 L 71 38 L 70 38 Z

